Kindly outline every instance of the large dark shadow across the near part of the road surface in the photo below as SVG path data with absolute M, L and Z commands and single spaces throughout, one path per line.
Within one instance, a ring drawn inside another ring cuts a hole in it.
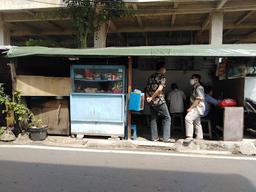
M 256 191 L 255 186 L 247 178 L 233 174 L 204 174 L 9 161 L 0 161 L 0 189 L 1 192 Z

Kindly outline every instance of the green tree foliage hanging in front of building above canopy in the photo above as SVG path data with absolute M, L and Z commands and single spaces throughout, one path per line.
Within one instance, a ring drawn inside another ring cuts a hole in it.
M 131 11 L 122 0 L 64 0 L 67 14 L 77 31 L 80 47 L 87 47 L 87 37 L 109 20 L 128 16 Z

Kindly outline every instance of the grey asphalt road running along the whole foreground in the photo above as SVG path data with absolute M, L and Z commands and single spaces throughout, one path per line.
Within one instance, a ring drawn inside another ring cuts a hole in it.
M 256 161 L 0 146 L 0 192 L 255 192 Z

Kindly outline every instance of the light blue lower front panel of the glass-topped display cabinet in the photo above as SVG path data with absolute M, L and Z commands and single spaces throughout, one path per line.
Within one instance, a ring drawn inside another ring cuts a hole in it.
M 124 122 L 124 95 L 72 94 L 71 121 Z

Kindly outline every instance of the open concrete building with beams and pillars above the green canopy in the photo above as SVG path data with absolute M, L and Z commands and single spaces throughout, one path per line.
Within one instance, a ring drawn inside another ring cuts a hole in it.
M 254 0 L 125 0 L 134 11 L 89 37 L 90 46 L 141 46 L 256 42 Z M 62 0 L 1 0 L 0 44 L 29 39 L 76 47 L 70 18 L 56 12 Z M 40 15 L 47 15 L 46 18 Z M 94 38 L 93 38 L 94 37 Z

